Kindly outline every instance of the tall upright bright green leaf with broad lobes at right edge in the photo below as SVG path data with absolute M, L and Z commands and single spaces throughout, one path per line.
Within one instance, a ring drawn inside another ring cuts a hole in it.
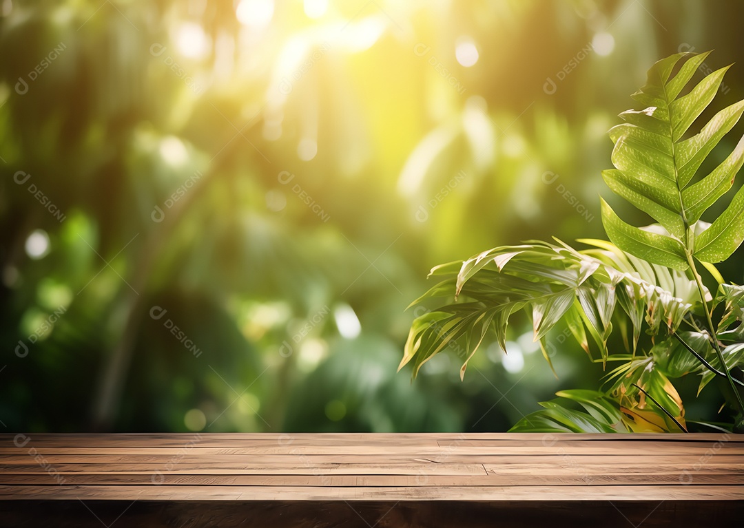
M 671 236 L 649 234 L 628 225 L 602 202 L 602 219 L 612 242 L 650 263 L 685 270 L 687 255 L 705 263 L 725 260 L 744 240 L 744 195 L 737 193 L 729 207 L 702 234 L 696 222 L 731 186 L 744 164 L 744 138 L 710 174 L 693 184 L 697 170 L 716 144 L 740 120 L 744 101 L 722 109 L 702 130 L 683 136 L 715 97 L 730 66 L 708 74 L 685 92 L 705 54 L 676 54 L 656 62 L 646 84 L 633 99 L 642 110 L 620 114 L 626 123 L 613 127 L 615 170 L 602 175 L 613 193 L 644 211 Z M 680 94 L 684 93 L 680 97 Z

